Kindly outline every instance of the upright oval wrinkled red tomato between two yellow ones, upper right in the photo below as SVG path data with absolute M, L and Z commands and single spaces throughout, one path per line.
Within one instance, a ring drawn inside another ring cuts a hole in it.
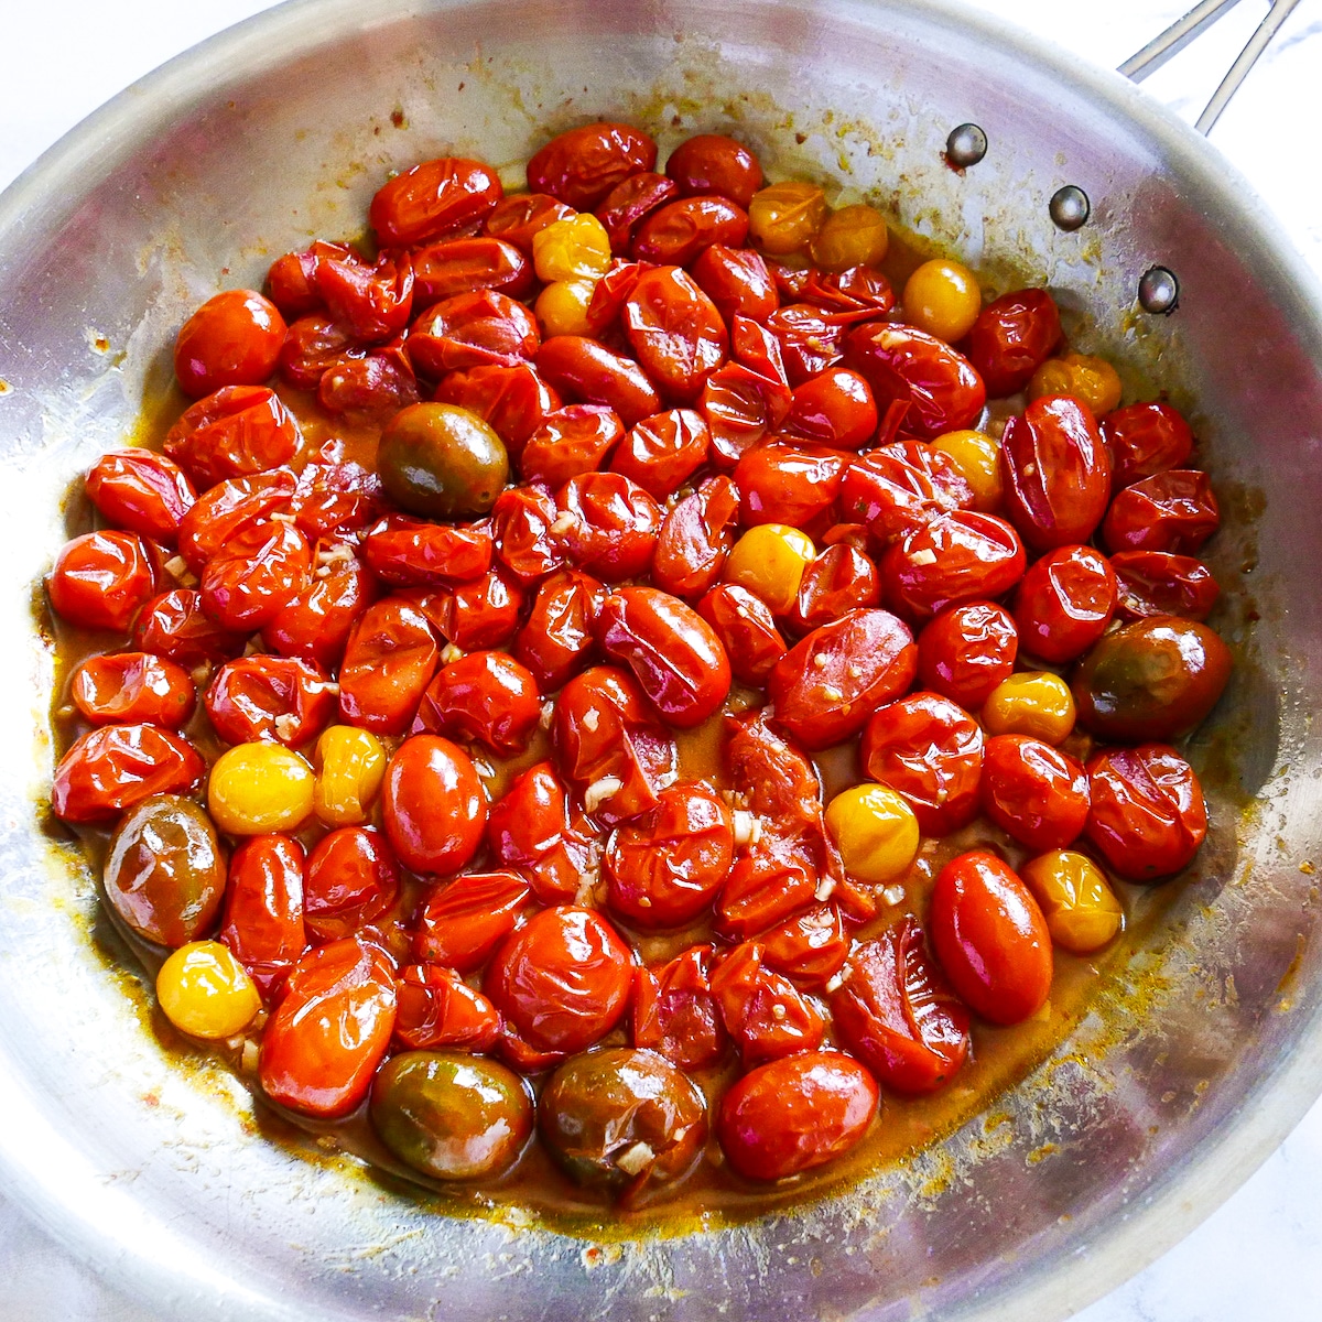
M 1001 439 L 1010 521 L 1035 550 L 1087 542 L 1107 513 L 1110 460 L 1087 407 L 1069 395 L 1034 399 Z

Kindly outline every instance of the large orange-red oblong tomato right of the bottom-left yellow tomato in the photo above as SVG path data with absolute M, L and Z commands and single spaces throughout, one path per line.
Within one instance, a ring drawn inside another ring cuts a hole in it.
M 262 1036 L 263 1091 L 304 1116 L 349 1114 L 371 1087 L 394 1023 L 394 968 L 379 947 L 346 937 L 304 954 Z

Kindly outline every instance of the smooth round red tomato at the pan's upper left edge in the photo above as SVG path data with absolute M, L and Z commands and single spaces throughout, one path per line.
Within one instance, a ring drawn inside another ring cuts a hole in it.
M 275 304 L 253 290 L 208 299 L 175 341 L 175 375 L 184 394 L 200 399 L 222 386 L 259 386 L 275 371 L 284 330 Z

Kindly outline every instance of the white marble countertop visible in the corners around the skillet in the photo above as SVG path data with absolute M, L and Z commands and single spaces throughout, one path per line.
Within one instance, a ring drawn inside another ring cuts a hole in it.
M 1191 3 L 981 0 L 981 8 L 1117 65 Z M 264 0 L 4 0 L 0 188 L 122 87 L 267 7 Z M 1264 9 L 1261 0 L 1241 4 L 1219 30 L 1158 73 L 1149 90 L 1196 118 Z M 1322 171 L 1300 152 L 1303 143 L 1317 149 L 1319 73 L 1322 0 L 1302 0 L 1214 141 L 1276 210 L 1322 279 Z M 1077 1322 L 1317 1322 L 1319 1187 L 1322 1103 L 1202 1227 L 1084 1309 Z M 108 1292 L 3 1198 L 0 1281 L 5 1322 L 178 1322 Z

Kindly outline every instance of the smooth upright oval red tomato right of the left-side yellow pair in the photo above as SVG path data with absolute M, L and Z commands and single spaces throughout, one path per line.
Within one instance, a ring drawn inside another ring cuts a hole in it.
M 486 793 L 472 759 L 438 735 L 412 735 L 395 750 L 381 804 L 386 838 L 415 873 L 457 871 L 486 828 Z

